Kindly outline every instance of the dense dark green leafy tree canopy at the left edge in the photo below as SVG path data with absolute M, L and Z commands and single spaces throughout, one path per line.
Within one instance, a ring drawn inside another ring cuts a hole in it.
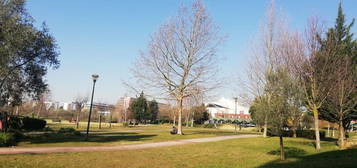
M 34 25 L 24 6 L 24 0 L 0 0 L 0 106 L 39 98 L 48 68 L 59 67 L 54 37 L 45 23 Z

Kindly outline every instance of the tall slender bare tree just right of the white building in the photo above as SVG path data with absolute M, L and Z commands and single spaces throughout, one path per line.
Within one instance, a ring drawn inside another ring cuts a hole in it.
M 250 104 L 254 101 L 254 99 L 267 99 L 268 105 L 270 104 L 271 94 L 267 92 L 267 77 L 269 73 L 273 71 L 275 68 L 275 64 L 277 64 L 276 50 L 277 43 L 279 42 L 280 33 L 284 28 L 284 21 L 282 15 L 277 14 L 275 10 L 275 4 L 272 1 L 264 22 L 262 23 L 259 39 L 256 40 L 258 43 L 253 45 L 252 47 L 252 60 L 250 61 L 247 69 L 247 79 L 246 81 L 242 81 L 242 86 L 245 88 L 245 92 L 243 94 L 244 99 Z M 257 100 L 259 102 L 263 102 L 263 100 Z M 265 100 L 264 100 L 265 101 Z M 269 110 L 269 106 L 267 106 L 267 110 Z M 267 136 L 268 129 L 268 116 L 267 114 L 263 115 L 260 118 L 264 118 L 264 132 L 263 136 Z

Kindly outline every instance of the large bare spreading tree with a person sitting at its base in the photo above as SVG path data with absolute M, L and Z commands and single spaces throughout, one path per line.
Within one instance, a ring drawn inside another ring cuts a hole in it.
M 182 132 L 183 101 L 190 88 L 203 92 L 218 85 L 217 47 L 223 41 L 201 1 L 181 7 L 178 15 L 154 33 L 148 52 L 136 62 L 137 83 L 174 98 L 178 106 L 178 134 Z

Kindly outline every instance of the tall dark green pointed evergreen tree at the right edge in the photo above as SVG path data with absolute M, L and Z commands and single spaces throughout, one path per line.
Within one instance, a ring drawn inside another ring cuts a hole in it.
M 333 28 L 321 39 L 320 56 L 330 60 L 332 89 L 321 107 L 320 117 L 339 125 L 340 147 L 344 147 L 345 131 L 357 119 L 356 40 L 350 32 L 354 19 L 346 24 L 342 5 Z

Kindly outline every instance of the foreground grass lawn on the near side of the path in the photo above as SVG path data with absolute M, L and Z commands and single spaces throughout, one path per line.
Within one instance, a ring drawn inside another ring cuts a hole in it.
M 338 150 L 335 142 L 323 141 L 316 152 L 313 140 L 284 138 L 287 160 L 279 161 L 279 140 L 247 138 L 160 147 L 144 150 L 21 154 L 0 156 L 0 167 L 100 168 L 100 167 L 341 167 L 355 168 L 357 149 Z

